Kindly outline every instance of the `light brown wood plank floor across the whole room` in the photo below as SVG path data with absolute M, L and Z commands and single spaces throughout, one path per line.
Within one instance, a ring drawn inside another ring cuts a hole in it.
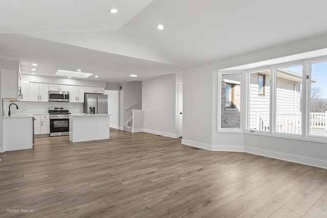
M 1 153 L 0 217 L 327 217 L 326 169 L 110 131 Z

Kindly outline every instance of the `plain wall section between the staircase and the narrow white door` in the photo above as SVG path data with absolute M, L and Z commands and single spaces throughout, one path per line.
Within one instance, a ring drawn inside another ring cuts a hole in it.
M 182 75 L 166 75 L 142 82 L 144 132 L 178 137 L 178 82 Z

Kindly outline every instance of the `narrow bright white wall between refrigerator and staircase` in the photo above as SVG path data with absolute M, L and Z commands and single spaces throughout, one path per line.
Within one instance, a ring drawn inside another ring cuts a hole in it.
M 119 128 L 119 91 L 118 90 L 105 90 L 108 95 L 108 114 L 112 114 L 109 120 L 111 128 Z

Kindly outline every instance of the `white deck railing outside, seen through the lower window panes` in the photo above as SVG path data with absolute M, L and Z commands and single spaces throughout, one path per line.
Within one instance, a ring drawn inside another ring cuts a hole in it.
M 310 113 L 310 128 L 327 130 L 326 117 L 327 111 Z M 277 114 L 276 132 L 300 134 L 301 123 L 301 114 Z M 269 130 L 269 114 L 256 113 L 256 130 Z

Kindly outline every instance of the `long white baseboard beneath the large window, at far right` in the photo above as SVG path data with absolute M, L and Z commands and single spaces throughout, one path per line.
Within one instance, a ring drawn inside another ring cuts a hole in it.
M 256 149 L 256 148 L 251 148 L 251 147 L 244 147 L 244 152 L 250 153 L 250 154 L 261 155 L 261 156 L 265 156 L 265 157 L 271 157 L 271 158 L 275 158 L 275 159 L 279 159 L 279 160 L 286 160 L 286 161 L 290 161 L 290 162 L 301 163 L 301 164 L 306 164 L 306 165 L 310 165 L 310 166 L 316 166 L 316 167 L 325 168 L 325 169 L 327 168 L 327 161 L 325 161 L 325 160 L 296 156 L 296 155 L 268 151 L 268 150 L 263 150 L 263 149 Z

